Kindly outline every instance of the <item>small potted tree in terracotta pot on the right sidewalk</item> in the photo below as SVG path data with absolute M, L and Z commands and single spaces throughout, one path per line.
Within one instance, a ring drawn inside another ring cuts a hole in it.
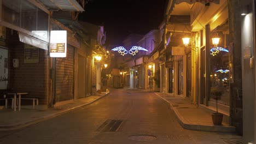
M 222 98 L 224 88 L 221 87 L 211 87 L 211 98 L 216 100 L 216 112 L 212 113 L 212 122 L 214 125 L 221 125 L 223 114 L 218 112 L 218 100 Z

